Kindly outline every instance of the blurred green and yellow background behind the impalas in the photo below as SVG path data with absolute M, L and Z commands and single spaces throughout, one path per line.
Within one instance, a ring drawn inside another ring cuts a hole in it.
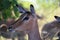
M 43 16 L 42 20 L 38 20 L 39 30 L 43 28 L 44 24 L 54 21 L 55 15 L 60 16 L 60 0 L 0 0 L 0 25 L 19 18 L 21 14 L 15 4 L 22 5 L 27 10 L 29 10 L 30 4 L 34 5 L 36 14 Z M 27 37 L 25 36 L 25 38 Z M 7 39 L 0 37 L 0 40 Z

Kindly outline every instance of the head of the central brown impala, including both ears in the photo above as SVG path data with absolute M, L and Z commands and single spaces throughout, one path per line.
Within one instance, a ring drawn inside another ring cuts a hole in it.
M 23 13 L 20 18 L 13 23 L 8 29 L 14 29 L 19 31 L 31 30 L 34 25 L 37 25 L 37 15 L 33 5 L 30 5 L 30 11 L 25 10 L 22 6 L 16 5 L 19 12 Z M 41 18 L 41 17 L 40 17 Z

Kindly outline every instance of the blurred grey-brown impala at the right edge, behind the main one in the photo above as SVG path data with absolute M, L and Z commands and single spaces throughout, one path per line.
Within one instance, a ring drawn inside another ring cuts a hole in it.
M 60 17 L 54 16 L 54 18 L 55 21 L 45 24 L 42 29 L 41 34 L 45 40 L 52 40 L 60 32 Z

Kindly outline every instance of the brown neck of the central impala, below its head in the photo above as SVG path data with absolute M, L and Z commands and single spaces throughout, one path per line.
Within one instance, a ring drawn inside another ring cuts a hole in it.
M 28 40 L 42 40 L 39 34 L 38 25 L 33 25 L 30 33 L 28 33 Z

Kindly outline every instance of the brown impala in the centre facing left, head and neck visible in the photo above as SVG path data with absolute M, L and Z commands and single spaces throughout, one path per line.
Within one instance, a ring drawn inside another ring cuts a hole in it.
M 38 17 L 35 14 L 35 10 L 33 5 L 30 5 L 30 11 L 25 10 L 22 6 L 16 5 L 19 12 L 23 13 L 20 18 L 12 23 L 8 29 L 12 30 L 11 32 L 15 31 L 23 31 L 26 34 L 28 34 L 28 40 L 42 40 L 39 34 L 38 29 L 38 23 L 37 19 L 41 17 Z

